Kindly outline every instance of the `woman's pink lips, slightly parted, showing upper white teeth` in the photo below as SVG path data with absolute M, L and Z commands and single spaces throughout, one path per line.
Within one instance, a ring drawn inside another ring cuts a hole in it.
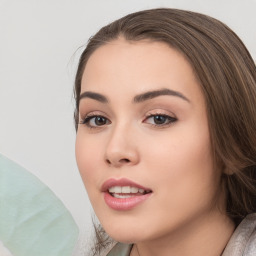
M 130 210 L 148 199 L 152 190 L 128 179 L 109 179 L 102 185 L 106 204 L 119 211 Z

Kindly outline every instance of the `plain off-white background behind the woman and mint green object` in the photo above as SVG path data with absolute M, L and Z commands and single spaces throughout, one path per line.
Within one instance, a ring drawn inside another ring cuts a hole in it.
M 101 26 L 154 7 L 222 20 L 256 59 L 256 0 L 0 0 L 0 152 L 54 191 L 82 234 L 92 210 L 74 154 L 77 49 Z

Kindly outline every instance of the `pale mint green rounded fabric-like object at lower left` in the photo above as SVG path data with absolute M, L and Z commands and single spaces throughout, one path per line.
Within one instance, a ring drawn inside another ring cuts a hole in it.
M 0 240 L 4 246 L 14 256 L 71 256 L 77 238 L 78 227 L 56 195 L 0 154 Z

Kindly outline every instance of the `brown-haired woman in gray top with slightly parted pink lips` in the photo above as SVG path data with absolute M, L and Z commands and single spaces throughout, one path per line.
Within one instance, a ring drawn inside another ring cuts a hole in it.
M 255 255 L 256 69 L 227 26 L 121 18 L 82 53 L 75 99 L 78 168 L 119 242 L 108 255 Z

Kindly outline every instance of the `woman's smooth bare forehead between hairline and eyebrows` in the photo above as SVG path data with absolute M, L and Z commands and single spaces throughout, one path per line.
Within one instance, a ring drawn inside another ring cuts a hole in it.
M 90 56 L 81 92 L 108 94 L 114 88 L 120 97 L 120 94 L 128 96 L 169 88 L 191 94 L 199 90 L 198 84 L 189 62 L 168 44 L 119 38 L 99 47 Z

